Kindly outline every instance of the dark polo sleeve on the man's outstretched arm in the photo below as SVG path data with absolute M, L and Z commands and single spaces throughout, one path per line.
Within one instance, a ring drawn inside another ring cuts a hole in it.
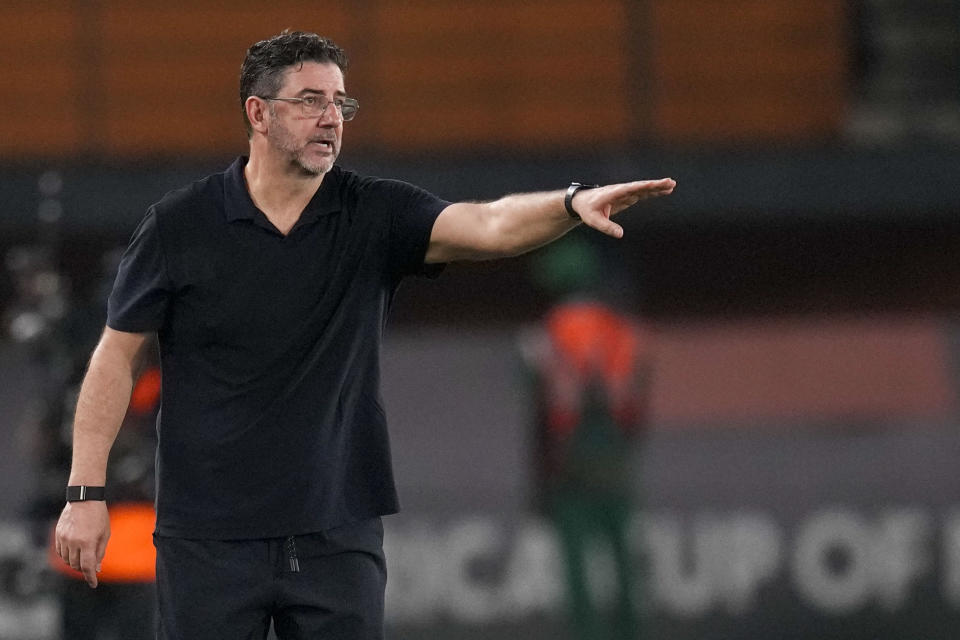
M 429 191 L 399 180 L 384 180 L 391 203 L 390 260 L 401 276 L 436 276 L 443 265 L 426 265 L 433 223 L 450 203 Z

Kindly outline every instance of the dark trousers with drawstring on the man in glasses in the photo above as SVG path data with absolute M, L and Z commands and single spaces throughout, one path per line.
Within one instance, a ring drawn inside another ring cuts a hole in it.
M 380 518 L 262 540 L 154 536 L 157 640 L 383 640 Z

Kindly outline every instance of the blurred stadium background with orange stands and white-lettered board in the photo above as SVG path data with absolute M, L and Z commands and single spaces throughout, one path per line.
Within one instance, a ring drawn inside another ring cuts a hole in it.
M 659 335 L 645 637 L 956 637 L 960 2 L 7 0 L 0 638 L 55 637 L 26 515 L 43 323 L 147 205 L 244 151 L 243 51 L 288 27 L 351 54 L 349 168 L 448 199 L 677 179 L 602 243 Z M 25 246 L 59 274 L 42 299 L 12 273 Z M 562 636 L 517 371 L 547 305 L 530 261 L 398 297 L 392 637 Z

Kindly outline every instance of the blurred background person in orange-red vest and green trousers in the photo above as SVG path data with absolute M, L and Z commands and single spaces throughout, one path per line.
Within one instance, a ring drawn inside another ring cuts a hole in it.
M 646 424 L 652 333 L 623 310 L 629 296 L 624 283 L 611 287 L 614 271 L 601 267 L 595 246 L 578 233 L 543 250 L 534 280 L 556 301 L 520 343 L 535 407 L 538 503 L 563 553 L 577 640 L 640 636 L 628 531 L 637 509 L 635 461 Z M 612 616 L 591 589 L 593 549 L 609 551 L 613 560 Z

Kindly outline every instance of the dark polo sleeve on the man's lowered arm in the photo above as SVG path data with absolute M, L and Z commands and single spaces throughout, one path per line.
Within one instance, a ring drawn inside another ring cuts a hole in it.
M 171 295 L 157 214 L 151 208 L 120 260 L 107 301 L 107 326 L 134 333 L 157 331 L 166 319 Z

